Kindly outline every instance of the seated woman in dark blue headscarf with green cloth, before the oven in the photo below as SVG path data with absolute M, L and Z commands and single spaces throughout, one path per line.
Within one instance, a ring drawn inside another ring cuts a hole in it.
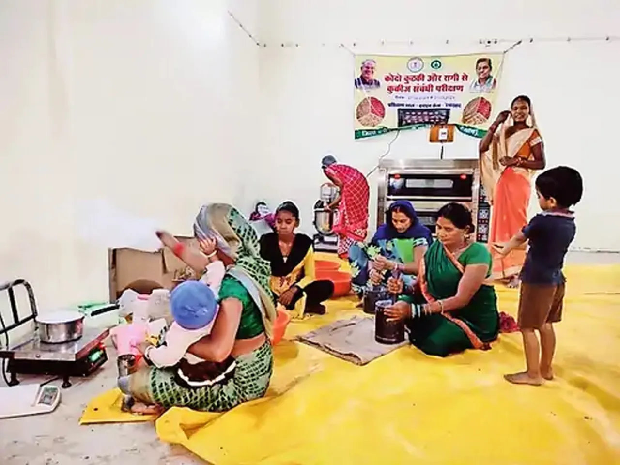
M 386 283 L 394 270 L 404 273 L 402 279 L 410 287 L 418 262 L 432 242 L 430 229 L 420 223 L 411 202 L 395 201 L 370 244 L 358 242 L 349 249 L 354 290 L 360 293 L 369 283 Z

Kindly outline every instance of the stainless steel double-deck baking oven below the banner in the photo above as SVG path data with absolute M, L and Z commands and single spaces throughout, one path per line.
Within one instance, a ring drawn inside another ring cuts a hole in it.
M 476 241 L 489 241 L 490 205 L 480 183 L 477 159 L 382 160 L 377 226 L 385 222 L 385 212 L 396 200 L 409 200 L 420 223 L 433 234 L 438 210 L 449 202 L 462 203 L 472 212 Z

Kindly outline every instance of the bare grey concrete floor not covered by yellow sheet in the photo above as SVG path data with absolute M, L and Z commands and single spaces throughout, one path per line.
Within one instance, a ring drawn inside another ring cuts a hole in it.
M 619 263 L 620 254 L 572 252 L 569 263 Z M 115 386 L 113 348 L 108 361 L 91 379 L 63 390 L 55 412 L 37 417 L 0 420 L 2 465 L 192 465 L 205 463 L 178 446 L 157 439 L 151 423 L 80 426 L 82 410 L 92 397 Z M 33 378 L 22 378 L 33 382 Z M 45 378 L 47 379 L 47 378 Z M 3 381 L 0 385 L 4 386 Z M 55 384 L 60 385 L 60 381 Z

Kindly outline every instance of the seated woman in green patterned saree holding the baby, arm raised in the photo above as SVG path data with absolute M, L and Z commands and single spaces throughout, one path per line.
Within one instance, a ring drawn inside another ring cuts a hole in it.
M 269 336 L 276 311 L 269 288 L 270 266 L 260 257 L 257 234 L 236 208 L 224 203 L 203 206 L 194 233 L 199 241 L 215 240 L 216 257 L 180 246 L 167 232 L 158 233 L 162 243 L 198 273 L 213 259 L 222 260 L 227 267 L 211 334 L 188 350 L 205 360 L 192 365 L 192 370 L 197 376 L 210 373 L 232 357 L 234 373 L 212 384 L 188 387 L 179 383 L 174 368 L 149 366 L 132 374 L 124 389 L 139 401 L 136 412 L 169 407 L 222 412 L 267 391 L 273 370 Z

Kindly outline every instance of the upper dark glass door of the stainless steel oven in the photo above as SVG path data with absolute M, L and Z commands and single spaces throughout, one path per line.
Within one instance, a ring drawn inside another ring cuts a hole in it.
M 387 197 L 471 200 L 471 173 L 399 173 L 387 177 Z

